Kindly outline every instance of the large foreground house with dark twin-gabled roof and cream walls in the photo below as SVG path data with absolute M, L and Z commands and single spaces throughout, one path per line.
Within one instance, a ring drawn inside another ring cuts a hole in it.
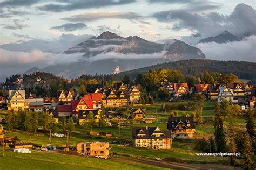
M 172 148 L 171 131 L 162 131 L 158 127 L 133 128 L 132 139 L 136 147 Z

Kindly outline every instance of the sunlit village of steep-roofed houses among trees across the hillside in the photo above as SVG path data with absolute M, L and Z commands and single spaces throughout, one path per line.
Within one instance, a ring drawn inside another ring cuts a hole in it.
M 24 82 L 22 77 L 17 77 L 12 82 L 14 86 L 11 86 L 16 89 L 9 89 L 10 86 L 5 86 L 5 84 L 2 86 L 3 95 L 0 103 L 3 114 L 0 115 L 2 116 L 0 122 L 3 126 L 1 126 L 0 140 L 5 140 L 6 147 L 10 148 L 37 148 L 39 146 L 37 142 L 37 144 L 28 144 L 25 140 L 21 145 L 15 138 L 15 136 L 19 137 L 19 134 L 12 133 L 12 131 L 25 131 L 29 132 L 28 134 L 42 133 L 50 138 L 48 145 L 40 145 L 41 152 L 43 152 L 44 148 L 56 150 L 56 145 L 52 145 L 52 138 L 62 136 L 66 138 L 65 147 L 59 145 L 56 151 L 60 151 L 61 148 L 69 154 L 76 150 L 74 152 L 86 157 L 105 159 L 111 158 L 117 152 L 115 145 L 112 149 L 116 142 L 113 140 L 124 139 L 126 141 L 118 142 L 124 147 L 171 151 L 176 150 L 177 144 L 183 143 L 184 140 L 186 143 L 196 145 L 198 152 L 209 152 L 208 145 L 210 145 L 210 152 L 224 152 L 232 143 L 227 140 L 225 148 L 218 146 L 220 141 L 214 137 L 216 134 L 214 134 L 214 129 L 215 131 L 217 129 L 212 126 L 212 122 L 218 122 L 204 115 L 205 104 L 214 104 L 210 115 L 218 120 L 217 116 L 220 114 L 220 122 L 227 117 L 232 120 L 240 119 L 240 117 L 244 119 L 246 115 L 256 110 L 255 86 L 238 81 L 234 75 L 223 76 L 226 77 L 225 79 L 230 79 L 226 83 L 211 84 L 213 74 L 205 73 L 200 77 L 201 82 L 204 83 L 192 83 L 193 86 L 191 86 L 191 82 L 185 82 L 184 75 L 176 70 L 162 69 L 156 72 L 166 76 L 164 82 L 156 80 L 158 74 L 154 78 L 150 77 L 154 75 L 152 71 L 143 75 L 142 79 L 140 79 L 141 75 L 138 75 L 135 83 L 129 77 L 124 77 L 119 82 L 109 81 L 108 84 L 103 81 L 95 83 L 97 81 L 89 79 L 86 80 L 85 87 L 81 83 L 82 80 L 63 80 L 70 86 L 57 89 L 55 95 L 33 94 L 35 90 L 32 89 L 40 86 L 43 90 L 45 84 L 48 84 L 37 73 L 33 74 L 36 81 L 33 82 L 32 88 L 25 87 L 29 83 Z M 207 82 L 209 77 L 210 81 Z M 149 79 L 158 84 L 151 83 Z M 231 82 L 232 80 L 234 82 Z M 147 85 L 145 86 L 143 82 Z M 79 87 L 72 86 L 76 83 Z M 48 90 L 50 90 L 49 85 L 46 87 Z M 82 86 L 86 89 L 83 90 Z M 28 89 L 31 91 L 27 91 Z M 154 91 L 157 91 L 157 95 Z M 221 110 L 217 109 L 219 107 Z M 212 134 L 208 134 L 207 131 L 198 132 L 204 131 L 209 121 L 212 129 L 206 129 L 212 131 Z M 223 127 L 230 125 L 230 122 L 227 122 L 228 124 Z M 117 130 L 116 128 L 119 130 L 113 132 Z M 87 133 L 81 134 L 86 140 L 77 139 L 77 129 L 88 129 Z M 100 129 L 103 132 L 99 132 Z M 131 136 L 122 134 L 122 129 L 127 129 L 125 133 Z M 3 136 L 3 131 L 8 134 L 8 137 Z M 237 133 L 239 131 L 240 134 L 241 130 L 235 131 Z M 250 135 L 253 136 L 254 133 L 255 131 Z M 225 139 L 227 134 L 223 131 L 222 135 Z M 70 142 L 73 139 L 76 139 L 75 145 Z M 210 140 L 210 144 L 207 140 Z M 211 146 L 211 142 L 215 144 Z M 254 143 L 254 139 L 250 142 Z M 240 158 L 234 162 L 242 166 Z

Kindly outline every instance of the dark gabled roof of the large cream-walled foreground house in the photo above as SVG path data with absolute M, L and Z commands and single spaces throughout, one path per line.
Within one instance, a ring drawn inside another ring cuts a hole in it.
M 166 138 L 171 138 L 171 131 L 156 131 L 157 127 L 148 127 L 148 128 L 132 128 L 132 139 L 166 139 Z M 143 131 L 143 132 L 140 132 Z M 162 132 L 164 135 L 161 135 L 159 137 L 152 136 L 154 132 Z M 137 136 L 137 134 L 142 134 L 144 133 L 145 135 L 140 137 Z

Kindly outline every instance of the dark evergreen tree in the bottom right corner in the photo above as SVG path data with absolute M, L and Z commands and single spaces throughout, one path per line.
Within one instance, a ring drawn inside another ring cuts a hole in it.
M 252 149 L 252 140 L 248 133 L 245 134 L 244 141 L 244 152 L 242 153 L 242 168 L 251 169 L 254 163 L 253 161 L 253 149 Z

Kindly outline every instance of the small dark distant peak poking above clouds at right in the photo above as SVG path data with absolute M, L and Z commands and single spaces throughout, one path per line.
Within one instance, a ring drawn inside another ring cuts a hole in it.
M 241 39 L 234 36 L 232 33 L 228 32 L 227 30 L 223 31 L 221 34 L 215 37 L 208 37 L 198 41 L 199 43 L 208 43 L 208 42 L 216 42 L 218 44 L 232 42 L 232 41 L 240 41 Z

